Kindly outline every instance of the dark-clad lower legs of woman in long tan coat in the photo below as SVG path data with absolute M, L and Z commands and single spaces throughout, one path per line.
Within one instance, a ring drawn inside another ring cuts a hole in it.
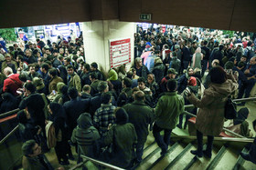
M 206 153 L 211 155 L 212 146 L 213 146 L 214 136 L 208 135 L 208 144 Z M 203 155 L 203 134 L 197 130 L 197 153 L 198 155 Z

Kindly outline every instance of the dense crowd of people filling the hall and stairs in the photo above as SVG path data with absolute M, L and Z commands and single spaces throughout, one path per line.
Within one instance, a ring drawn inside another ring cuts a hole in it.
M 228 96 L 255 95 L 253 38 L 178 26 L 138 27 L 134 65 L 129 71 L 121 65 L 107 72 L 95 62 L 86 63 L 82 36 L 10 45 L 0 54 L 0 114 L 20 109 L 16 118 L 25 169 L 49 168 L 45 157 L 38 156 L 39 145 L 43 152 L 54 147 L 60 165 L 74 159 L 70 145 L 75 145 L 84 155 L 129 168 L 142 161 L 149 130 L 165 155 L 172 130 L 183 127 L 184 105 L 189 104 L 199 108 L 198 113 L 197 108 L 188 110 L 197 115 L 198 147 L 191 153 L 211 157 Z M 236 125 L 246 119 L 239 117 Z M 206 151 L 203 134 L 208 135 Z

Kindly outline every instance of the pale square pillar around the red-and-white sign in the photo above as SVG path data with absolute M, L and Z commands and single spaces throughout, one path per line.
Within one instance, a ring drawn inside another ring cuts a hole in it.
M 131 38 L 131 67 L 134 54 L 135 23 L 120 22 L 118 20 L 98 20 L 82 24 L 83 44 L 86 63 L 96 62 L 101 71 L 107 73 L 110 65 L 109 40 Z

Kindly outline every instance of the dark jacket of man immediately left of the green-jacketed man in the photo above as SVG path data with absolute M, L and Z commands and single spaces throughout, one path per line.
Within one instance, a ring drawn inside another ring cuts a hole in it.
M 135 127 L 138 143 L 144 144 L 148 135 L 148 125 L 154 120 L 153 109 L 139 101 L 124 105 L 123 108 L 129 115 L 129 122 Z

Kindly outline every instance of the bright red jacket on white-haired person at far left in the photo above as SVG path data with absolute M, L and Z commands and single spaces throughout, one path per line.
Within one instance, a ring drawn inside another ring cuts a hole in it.
M 18 74 L 8 76 L 4 81 L 3 92 L 9 92 L 18 95 L 16 90 L 22 88 L 22 82 L 18 78 Z

